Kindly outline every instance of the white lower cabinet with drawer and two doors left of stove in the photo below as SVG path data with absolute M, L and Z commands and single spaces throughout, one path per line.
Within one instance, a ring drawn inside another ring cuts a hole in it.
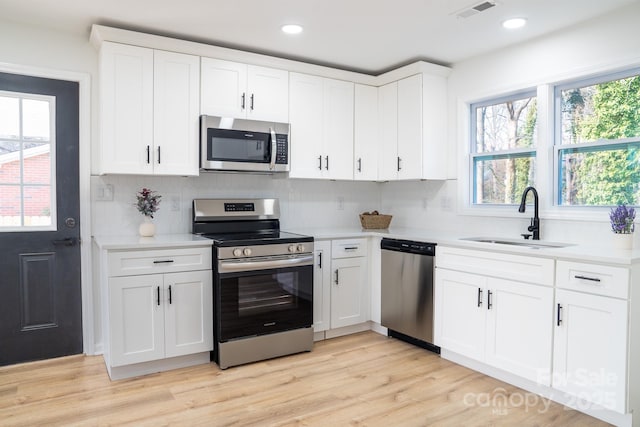
M 210 247 L 103 250 L 100 261 L 104 358 L 112 379 L 208 362 Z

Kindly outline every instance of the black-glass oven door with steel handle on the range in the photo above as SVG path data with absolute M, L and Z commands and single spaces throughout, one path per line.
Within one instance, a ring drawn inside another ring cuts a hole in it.
M 312 262 L 311 254 L 219 261 L 214 293 L 218 342 L 311 327 Z

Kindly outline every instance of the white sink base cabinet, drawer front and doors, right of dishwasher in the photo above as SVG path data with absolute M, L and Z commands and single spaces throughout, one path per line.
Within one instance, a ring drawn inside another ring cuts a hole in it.
M 553 261 L 439 246 L 436 266 L 435 344 L 550 385 L 552 282 L 527 281 L 553 277 Z

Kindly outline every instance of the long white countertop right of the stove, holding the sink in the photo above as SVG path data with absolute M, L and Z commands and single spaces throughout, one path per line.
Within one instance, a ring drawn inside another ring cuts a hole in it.
M 388 230 L 365 230 L 362 228 L 299 228 L 292 229 L 292 233 L 300 233 L 314 236 L 318 240 L 322 239 L 342 239 L 354 237 L 388 237 L 391 239 L 407 239 L 419 242 L 436 243 L 440 245 L 454 246 L 467 249 L 491 250 L 519 255 L 538 256 L 543 258 L 566 259 L 572 261 L 600 262 L 606 264 L 631 265 L 640 262 L 640 249 L 615 249 L 607 246 L 606 243 L 598 245 L 572 244 L 564 248 L 530 248 L 526 246 L 513 246 L 497 243 L 482 243 L 469 240 L 460 240 L 469 237 L 500 237 L 482 235 L 455 235 L 452 232 L 394 228 Z M 513 240 L 504 238 L 505 240 Z M 532 241 L 533 242 L 533 241 Z M 544 243 L 544 240 L 540 241 Z M 535 242 L 534 242 L 535 243 Z M 553 242 L 551 242 L 553 243 Z M 563 242 L 571 243 L 571 242 Z M 437 253 L 437 249 L 436 249 Z

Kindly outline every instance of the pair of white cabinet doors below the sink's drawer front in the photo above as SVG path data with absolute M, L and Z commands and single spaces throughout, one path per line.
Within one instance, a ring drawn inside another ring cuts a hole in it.
M 435 343 L 549 385 L 553 288 L 436 270 Z

